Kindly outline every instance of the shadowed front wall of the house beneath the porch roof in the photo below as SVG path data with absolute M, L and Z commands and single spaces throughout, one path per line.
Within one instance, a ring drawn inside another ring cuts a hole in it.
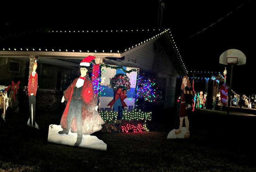
M 10 62 L 19 63 L 19 72 L 9 70 Z M 38 89 L 36 95 L 36 108 L 38 110 L 54 111 L 60 108 L 63 91 L 77 77 L 77 70 L 37 62 Z M 24 86 L 28 85 L 29 58 L 0 57 L 0 85 L 11 85 L 20 80 L 19 103 L 27 106 L 28 95 L 24 92 Z M 65 79 L 65 81 L 64 81 Z M 57 84 L 57 82 L 59 82 Z M 58 85 L 58 88 L 57 88 Z M 57 90 L 56 90 L 57 89 Z

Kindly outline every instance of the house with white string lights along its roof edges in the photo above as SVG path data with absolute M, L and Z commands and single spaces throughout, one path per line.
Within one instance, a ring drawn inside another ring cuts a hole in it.
M 52 101 L 60 100 L 65 79 L 79 75 L 79 63 L 88 55 L 102 58 L 105 64 L 139 68 L 155 78 L 165 108 L 174 106 L 176 78 L 187 72 L 170 29 L 45 29 L 0 37 L 0 85 L 20 80 L 21 88 L 27 86 L 29 68 L 39 58 L 38 90 L 40 95 L 52 95 L 44 98 L 52 107 Z

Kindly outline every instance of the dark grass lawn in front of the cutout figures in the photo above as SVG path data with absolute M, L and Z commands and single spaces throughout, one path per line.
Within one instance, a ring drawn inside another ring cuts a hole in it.
M 200 110 L 189 139 L 166 139 L 176 116 L 168 110 L 148 122 L 149 132 L 93 133 L 107 144 L 100 151 L 47 142 L 62 112 L 37 112 L 40 130 L 22 112 L 0 120 L 0 171 L 256 171 L 256 116 Z

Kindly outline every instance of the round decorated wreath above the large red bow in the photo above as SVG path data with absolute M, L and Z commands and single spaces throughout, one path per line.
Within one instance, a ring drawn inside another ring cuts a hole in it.
M 122 90 L 130 90 L 130 78 L 126 74 L 116 74 L 113 78 L 110 79 L 110 86 L 113 88 L 114 92 L 118 88 Z

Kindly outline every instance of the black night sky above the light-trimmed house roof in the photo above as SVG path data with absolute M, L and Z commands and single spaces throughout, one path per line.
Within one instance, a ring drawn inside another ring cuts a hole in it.
M 238 49 L 246 55 L 247 63 L 235 66 L 234 88 L 240 92 L 244 85 L 250 84 L 254 74 L 256 29 L 252 0 L 166 0 L 163 13 L 159 11 L 162 2 L 3 3 L 0 35 L 40 28 L 157 29 L 162 14 L 161 29 L 171 29 L 189 71 L 223 72 L 225 65 L 219 64 L 219 56 L 228 49 Z

